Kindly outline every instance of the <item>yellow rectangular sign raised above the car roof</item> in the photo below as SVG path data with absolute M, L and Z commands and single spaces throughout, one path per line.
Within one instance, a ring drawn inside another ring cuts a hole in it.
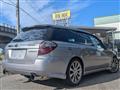
M 70 10 L 52 14 L 53 20 L 64 20 L 70 18 Z

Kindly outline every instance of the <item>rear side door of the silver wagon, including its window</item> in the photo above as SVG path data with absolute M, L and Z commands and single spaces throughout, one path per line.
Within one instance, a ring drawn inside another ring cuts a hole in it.
M 84 59 L 84 66 L 86 71 L 93 70 L 99 64 L 97 57 L 97 49 L 89 34 L 79 33 L 79 42 L 82 47 L 81 56 Z

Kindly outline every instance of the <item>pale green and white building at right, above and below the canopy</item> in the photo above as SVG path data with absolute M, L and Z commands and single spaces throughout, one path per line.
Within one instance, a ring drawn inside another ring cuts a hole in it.
M 109 39 L 111 39 L 110 37 L 112 37 L 112 39 L 114 39 L 115 47 L 117 47 L 118 52 L 120 52 L 120 15 L 95 18 L 94 26 L 95 27 L 114 27 L 114 28 L 116 28 L 115 31 L 108 32 L 108 36 L 109 36 Z

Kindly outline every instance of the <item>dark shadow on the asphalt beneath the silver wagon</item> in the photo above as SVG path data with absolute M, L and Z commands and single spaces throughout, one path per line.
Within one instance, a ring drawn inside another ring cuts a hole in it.
M 61 80 L 61 79 L 48 79 L 44 81 L 36 80 L 33 82 L 37 84 L 55 87 L 54 90 L 59 90 L 59 89 L 64 89 L 64 88 L 73 89 L 73 88 L 90 86 L 90 85 L 113 81 L 119 78 L 120 78 L 120 71 L 118 73 L 109 73 L 107 71 L 102 71 L 102 72 L 97 72 L 97 73 L 84 76 L 81 80 L 81 84 L 77 87 L 70 87 L 65 83 L 64 80 Z

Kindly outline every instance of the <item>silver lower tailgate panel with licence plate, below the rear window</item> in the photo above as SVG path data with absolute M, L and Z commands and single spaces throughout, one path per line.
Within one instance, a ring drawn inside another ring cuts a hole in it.
M 42 41 L 39 41 L 39 43 Z M 33 64 L 37 58 L 39 43 L 21 42 L 11 43 L 6 50 L 9 63 Z

